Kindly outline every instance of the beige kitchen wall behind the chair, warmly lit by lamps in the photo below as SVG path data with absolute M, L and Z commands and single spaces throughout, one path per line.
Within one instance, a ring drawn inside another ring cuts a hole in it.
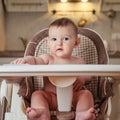
M 87 19 L 88 22 L 85 27 L 92 28 L 99 32 L 104 40 L 110 43 L 108 44 L 108 49 L 112 50 L 116 48 L 116 43 L 112 41 L 112 34 L 120 33 L 120 12 L 116 13 L 114 19 L 110 19 L 99 11 L 99 6 L 97 4 L 91 5 L 88 10 L 89 12 L 81 12 L 82 6 L 79 7 L 78 4 L 76 4 L 76 6 L 75 4 L 68 5 L 69 8 L 67 9 L 73 10 L 73 12 L 63 12 L 65 11 L 64 9 L 62 9 L 61 12 L 58 6 L 60 5 L 52 4 L 48 12 L 6 12 L 6 50 L 24 50 L 24 46 L 19 40 L 19 37 L 30 40 L 37 31 L 47 27 L 52 20 L 60 17 L 69 17 L 76 24 L 78 24 L 82 18 Z M 66 6 L 64 6 L 64 8 L 66 8 Z M 77 8 L 78 11 L 75 11 L 75 8 Z M 90 12 L 93 8 L 96 10 L 96 14 Z M 51 11 L 54 9 L 57 9 L 59 12 L 52 14 Z

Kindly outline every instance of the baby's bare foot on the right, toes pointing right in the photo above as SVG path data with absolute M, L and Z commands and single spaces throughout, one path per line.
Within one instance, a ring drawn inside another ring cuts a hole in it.
M 94 108 L 90 108 L 87 111 L 77 112 L 75 120 L 95 120 L 97 116 L 97 111 Z

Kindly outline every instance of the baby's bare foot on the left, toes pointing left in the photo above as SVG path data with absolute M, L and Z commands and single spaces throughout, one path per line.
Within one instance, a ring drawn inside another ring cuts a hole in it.
M 50 120 L 49 113 L 44 109 L 27 108 L 26 115 L 29 120 Z

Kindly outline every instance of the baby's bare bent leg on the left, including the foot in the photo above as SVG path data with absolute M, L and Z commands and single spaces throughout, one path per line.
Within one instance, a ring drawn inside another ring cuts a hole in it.
M 29 120 L 50 120 L 49 102 L 51 96 L 44 91 L 32 94 L 31 107 L 27 108 L 26 115 Z

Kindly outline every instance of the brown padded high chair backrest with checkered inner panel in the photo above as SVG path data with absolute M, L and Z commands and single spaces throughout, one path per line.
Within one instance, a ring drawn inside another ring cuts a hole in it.
M 48 37 L 48 29 L 39 31 L 34 35 L 32 40 L 27 45 L 25 56 L 40 56 L 41 54 L 50 53 L 49 48 L 46 45 L 46 39 Z M 81 43 L 73 51 L 76 56 L 82 57 L 87 64 L 107 64 L 108 55 L 104 47 L 101 36 L 88 28 L 78 28 L 78 37 L 81 39 Z M 43 77 L 34 77 L 34 89 L 41 89 L 44 87 Z M 98 85 L 99 79 L 95 77 L 92 82 L 87 85 L 91 90 L 94 97 L 98 97 Z

